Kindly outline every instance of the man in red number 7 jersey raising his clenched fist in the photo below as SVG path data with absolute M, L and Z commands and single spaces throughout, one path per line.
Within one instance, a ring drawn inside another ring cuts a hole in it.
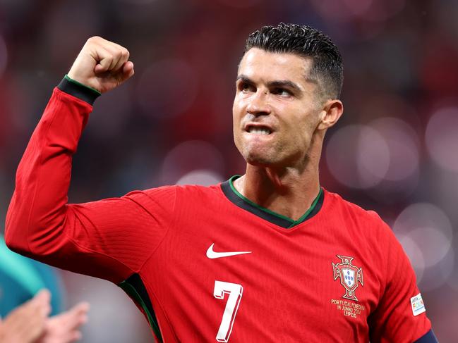
M 117 283 L 159 341 L 435 342 L 390 228 L 320 188 L 323 138 L 343 111 L 328 37 L 285 24 L 248 37 L 233 107 L 245 175 L 67 204 L 93 101 L 133 73 L 123 47 L 85 44 L 18 168 L 11 249 Z

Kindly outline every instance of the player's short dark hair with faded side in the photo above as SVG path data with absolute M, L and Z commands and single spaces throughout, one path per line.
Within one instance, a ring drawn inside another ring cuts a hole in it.
M 344 82 L 344 66 L 339 49 L 330 37 L 307 25 L 280 23 L 263 26 L 246 39 L 245 50 L 263 49 L 275 53 L 310 57 L 313 66 L 308 77 L 323 85 L 325 96 L 338 99 Z

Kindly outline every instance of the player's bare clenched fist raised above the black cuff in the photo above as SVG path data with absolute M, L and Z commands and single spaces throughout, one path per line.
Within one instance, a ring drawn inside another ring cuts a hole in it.
M 102 37 L 90 37 L 68 76 L 100 93 L 108 92 L 133 75 L 133 63 L 128 58 L 129 51 L 123 46 Z

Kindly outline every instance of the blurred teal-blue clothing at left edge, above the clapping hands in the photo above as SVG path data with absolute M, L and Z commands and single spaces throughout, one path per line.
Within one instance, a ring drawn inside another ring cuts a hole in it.
M 56 270 L 9 250 L 0 235 L 0 316 L 5 317 L 42 288 L 52 294 L 52 316 L 61 312 L 64 288 Z

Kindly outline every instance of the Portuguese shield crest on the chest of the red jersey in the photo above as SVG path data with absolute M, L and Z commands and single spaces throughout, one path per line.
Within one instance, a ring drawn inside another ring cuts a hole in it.
M 340 283 L 345 287 L 345 294 L 342 298 L 358 301 L 355 290 L 358 288 L 358 282 L 363 286 L 363 270 L 353 266 L 351 260 L 354 257 L 337 255 L 342 260 L 342 263 L 332 263 L 332 271 L 334 272 L 334 281 L 340 277 Z

